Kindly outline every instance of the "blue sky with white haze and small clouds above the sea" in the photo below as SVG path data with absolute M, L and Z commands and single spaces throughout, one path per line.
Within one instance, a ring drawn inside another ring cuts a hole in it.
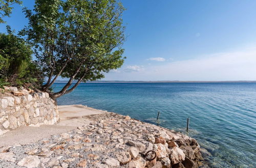
M 122 3 L 127 59 L 102 80 L 256 80 L 256 1 Z M 28 20 L 14 7 L 5 20 L 19 31 Z

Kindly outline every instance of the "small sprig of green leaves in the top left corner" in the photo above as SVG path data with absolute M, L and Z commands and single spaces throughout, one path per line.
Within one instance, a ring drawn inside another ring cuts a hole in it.
M 12 13 L 13 4 L 22 4 L 20 0 L 0 0 L 0 23 L 4 23 L 3 17 L 8 16 Z

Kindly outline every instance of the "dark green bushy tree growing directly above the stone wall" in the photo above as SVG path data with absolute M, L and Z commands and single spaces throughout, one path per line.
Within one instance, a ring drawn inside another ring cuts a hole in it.
M 10 85 L 38 86 L 40 71 L 32 61 L 32 49 L 24 39 L 0 33 L 0 79 Z

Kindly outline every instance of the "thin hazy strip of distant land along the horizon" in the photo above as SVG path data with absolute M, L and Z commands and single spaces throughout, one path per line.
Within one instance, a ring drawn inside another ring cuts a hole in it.
M 68 81 L 56 81 L 56 83 L 66 83 Z M 76 81 L 74 81 L 76 82 Z M 256 83 L 256 80 L 224 80 L 224 81 L 87 81 L 87 83 Z

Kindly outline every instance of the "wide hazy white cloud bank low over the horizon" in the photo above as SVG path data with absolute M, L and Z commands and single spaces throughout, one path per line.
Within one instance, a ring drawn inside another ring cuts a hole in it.
M 256 48 L 208 54 L 164 65 L 127 66 L 120 71 L 107 74 L 106 80 L 256 80 Z

